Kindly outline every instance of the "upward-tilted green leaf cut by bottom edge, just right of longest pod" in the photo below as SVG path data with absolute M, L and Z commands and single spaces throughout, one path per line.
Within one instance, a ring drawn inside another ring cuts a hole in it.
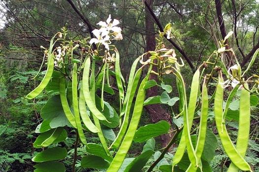
M 125 172 L 142 172 L 149 158 L 153 155 L 153 150 L 147 150 L 136 157 L 125 169 Z

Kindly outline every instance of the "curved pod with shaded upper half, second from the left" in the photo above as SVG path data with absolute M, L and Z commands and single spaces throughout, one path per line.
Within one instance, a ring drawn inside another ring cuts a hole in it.
M 71 125 L 76 128 L 76 123 L 75 123 L 75 117 L 72 114 L 67 99 L 66 99 L 66 94 L 65 94 L 65 77 L 60 78 L 60 99 L 61 99 L 61 104 L 63 107 L 63 111 L 65 113 L 65 116 L 67 120 L 71 123 Z

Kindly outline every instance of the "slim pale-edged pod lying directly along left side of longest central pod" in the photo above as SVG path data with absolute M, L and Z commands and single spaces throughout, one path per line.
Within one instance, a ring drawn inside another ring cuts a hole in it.
M 130 94 L 129 94 L 129 98 L 127 101 L 126 112 L 125 112 L 125 115 L 123 118 L 123 123 L 121 125 L 120 131 L 119 131 L 116 139 L 114 140 L 114 142 L 111 144 L 111 147 L 113 147 L 113 148 L 119 147 L 119 145 L 123 139 L 123 136 L 125 135 L 125 132 L 127 130 L 128 123 L 129 123 L 129 113 L 130 113 L 130 109 L 131 109 L 131 104 L 132 104 L 132 101 L 133 101 L 133 98 L 134 98 L 134 95 L 135 95 L 135 92 L 136 92 L 136 89 L 138 86 L 139 79 L 141 77 L 142 69 L 143 69 L 143 67 L 141 67 L 137 70 L 137 72 L 134 76 L 133 82 L 132 82 L 132 86 L 127 90 L 127 91 L 130 91 Z

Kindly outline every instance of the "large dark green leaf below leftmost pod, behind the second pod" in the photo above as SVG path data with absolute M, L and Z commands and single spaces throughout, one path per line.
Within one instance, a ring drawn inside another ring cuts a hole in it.
M 47 101 L 40 115 L 44 120 L 50 121 L 51 128 L 63 127 L 68 123 L 59 95 L 55 95 Z

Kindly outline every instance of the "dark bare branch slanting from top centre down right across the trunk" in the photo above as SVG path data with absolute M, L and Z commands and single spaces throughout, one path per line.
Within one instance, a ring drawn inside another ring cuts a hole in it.
M 154 11 L 150 8 L 150 6 L 149 6 L 149 4 L 147 3 L 146 0 L 144 0 L 144 2 L 145 2 L 146 7 L 148 8 L 150 14 L 151 14 L 152 17 L 154 18 L 154 20 L 155 20 L 155 22 L 156 22 L 156 24 L 157 24 L 159 30 L 160 30 L 161 32 L 163 32 L 163 27 L 162 27 L 162 25 L 161 25 L 159 19 L 158 19 L 157 16 L 155 15 Z M 166 35 L 164 35 L 164 37 L 166 38 Z M 167 38 L 166 38 L 166 39 L 167 39 Z M 194 72 L 195 67 L 194 67 L 192 61 L 190 60 L 190 58 L 185 54 L 184 50 L 183 50 L 181 47 L 179 47 L 172 39 L 167 39 L 167 40 L 181 53 L 181 55 L 186 59 L 187 63 L 189 64 L 189 66 L 191 67 L 192 71 Z

